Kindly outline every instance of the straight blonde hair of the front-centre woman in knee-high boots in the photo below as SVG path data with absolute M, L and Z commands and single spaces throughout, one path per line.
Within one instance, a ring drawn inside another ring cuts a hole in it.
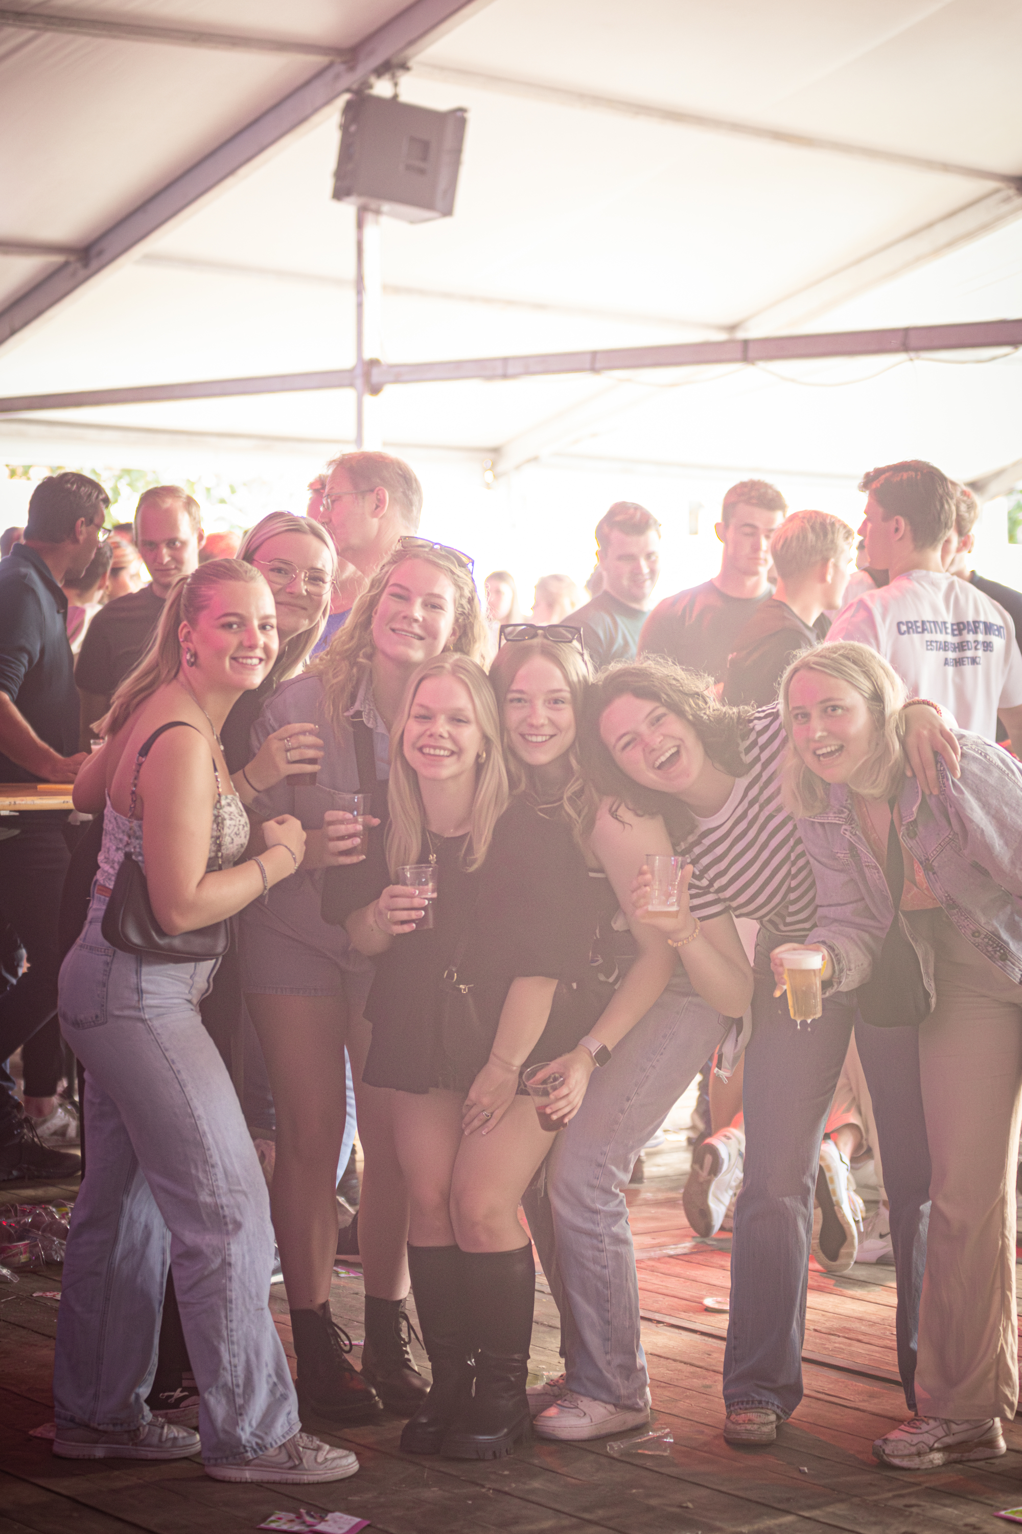
M 409 676 L 401 707 L 391 730 L 391 776 L 386 790 L 391 822 L 386 828 L 386 861 L 392 879 L 397 877 L 397 870 L 403 864 L 417 864 L 421 856 L 426 815 L 418 776 L 405 756 L 405 726 L 411 718 L 415 693 L 431 676 L 454 676 L 463 684 L 472 700 L 477 724 L 483 732 L 484 759 L 477 772 L 469 853 L 464 859 L 469 873 L 483 864 L 490 850 L 493 827 L 507 808 L 507 772 L 501 753 L 501 726 L 496 698 L 486 680 L 486 672 L 467 655 L 457 655 L 452 650 L 434 655 Z

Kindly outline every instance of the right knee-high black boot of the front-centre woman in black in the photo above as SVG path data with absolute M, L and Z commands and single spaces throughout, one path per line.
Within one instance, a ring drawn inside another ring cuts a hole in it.
M 463 1252 L 475 1347 L 475 1394 L 443 1440 L 447 1459 L 503 1459 L 529 1437 L 526 1379 L 536 1299 L 532 1246 Z

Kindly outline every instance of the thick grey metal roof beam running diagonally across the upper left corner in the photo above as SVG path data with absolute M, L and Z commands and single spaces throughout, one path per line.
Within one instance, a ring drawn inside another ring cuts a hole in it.
M 0 347 L 78 293 L 100 273 L 113 270 L 156 233 L 167 233 L 208 196 L 277 150 L 299 129 L 326 117 L 337 100 L 405 63 L 447 26 L 483 9 L 489 0 L 414 0 L 391 21 L 365 37 L 349 63 L 332 63 L 233 133 L 165 187 L 93 239 L 78 261 L 67 261 L 0 313 Z

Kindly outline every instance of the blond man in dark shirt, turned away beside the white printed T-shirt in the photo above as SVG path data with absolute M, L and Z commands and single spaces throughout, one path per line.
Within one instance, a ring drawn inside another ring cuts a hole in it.
M 762 709 L 777 701 L 791 661 L 820 644 L 824 609 L 841 606 L 853 538 L 849 523 L 826 511 L 794 511 L 781 522 L 771 540 L 777 586 L 757 604 L 735 641 L 723 683 L 725 703 Z

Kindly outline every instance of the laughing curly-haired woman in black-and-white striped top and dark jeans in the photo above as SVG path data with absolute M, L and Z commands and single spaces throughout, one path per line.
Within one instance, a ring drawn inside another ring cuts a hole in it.
M 755 712 L 716 703 L 708 678 L 670 661 L 617 666 L 590 693 L 585 756 L 596 782 L 636 811 L 659 810 L 693 864 L 688 910 L 670 937 L 696 948 L 723 911 L 760 923 L 752 1035 L 745 1051 L 745 1166 L 734 1215 L 731 1313 L 725 1351 L 725 1437 L 769 1443 L 801 1401 L 801 1339 L 820 1144 L 855 1020 L 853 997 L 832 996 L 823 1022 L 800 1028 L 774 996 L 769 953 L 801 943 L 815 920 L 812 867 L 785 808 L 788 741 L 777 704 Z M 906 713 L 906 744 L 924 781 L 933 750 L 958 747 L 932 707 Z M 648 874 L 636 899 L 648 902 Z M 930 1164 L 913 1029 L 855 1023 L 880 1124 L 898 1275 L 898 1367 L 913 1405 L 915 1333 Z M 906 1037 L 909 1035 L 909 1037 Z M 708 1051 L 680 1048 L 650 1072 L 636 1101 L 657 1123 Z M 628 1112 L 634 1112 L 628 1104 Z M 642 1144 L 634 1138 L 633 1144 Z M 769 1282 L 763 1275 L 769 1273 Z

